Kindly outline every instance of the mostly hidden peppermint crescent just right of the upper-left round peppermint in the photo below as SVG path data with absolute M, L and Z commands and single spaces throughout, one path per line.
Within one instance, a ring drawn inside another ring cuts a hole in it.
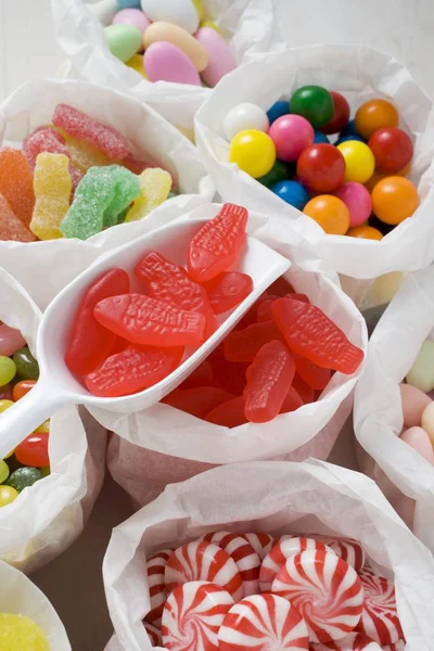
M 260 559 L 243 536 L 230 532 L 216 532 L 207 534 L 203 539 L 218 545 L 235 561 L 243 584 L 243 597 L 259 591 Z

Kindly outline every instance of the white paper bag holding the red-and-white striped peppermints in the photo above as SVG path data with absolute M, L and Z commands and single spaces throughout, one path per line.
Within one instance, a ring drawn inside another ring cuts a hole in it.
M 356 538 L 375 570 L 395 580 L 406 651 L 432 651 L 434 559 L 368 477 L 321 461 L 226 465 L 167 486 L 112 534 L 103 564 L 116 638 L 111 651 L 148 651 L 146 558 L 228 529 Z M 161 647 L 157 647 L 161 649 Z

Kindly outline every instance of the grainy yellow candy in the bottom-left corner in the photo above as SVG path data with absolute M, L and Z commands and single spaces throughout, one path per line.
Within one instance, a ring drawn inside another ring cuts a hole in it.
M 0 613 L 0 651 L 50 651 L 50 644 L 29 617 Z

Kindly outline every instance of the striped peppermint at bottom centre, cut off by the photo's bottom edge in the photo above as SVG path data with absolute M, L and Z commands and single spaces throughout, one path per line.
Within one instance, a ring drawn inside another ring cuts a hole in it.
M 218 633 L 219 651 L 308 651 L 298 611 L 276 595 L 252 595 L 233 605 Z

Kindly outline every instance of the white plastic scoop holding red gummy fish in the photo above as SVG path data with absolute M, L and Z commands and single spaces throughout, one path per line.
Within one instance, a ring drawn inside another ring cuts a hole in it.
M 184 360 L 170 375 L 145 391 L 118 398 L 100 398 L 90 394 L 64 363 L 71 327 L 85 291 L 104 271 L 120 267 L 129 273 L 131 291 L 141 292 L 143 288 L 132 271 L 138 260 L 151 251 L 158 251 L 171 261 L 184 265 L 190 241 L 208 221 L 209 216 L 204 218 L 203 215 L 209 208 L 215 216 L 218 212 L 216 206 L 201 206 L 193 210 L 191 218 L 184 216 L 100 257 L 52 301 L 43 315 L 37 339 L 39 380 L 28 394 L 0 416 L 0 459 L 64 405 L 91 405 L 120 413 L 141 411 L 155 405 L 216 348 L 258 296 L 290 268 L 291 263 L 286 258 L 247 237 L 237 270 L 252 277 L 253 291 L 233 310 L 220 315 L 216 332 L 190 356 L 187 352 Z M 195 218 L 194 215 L 199 214 L 201 218 Z

